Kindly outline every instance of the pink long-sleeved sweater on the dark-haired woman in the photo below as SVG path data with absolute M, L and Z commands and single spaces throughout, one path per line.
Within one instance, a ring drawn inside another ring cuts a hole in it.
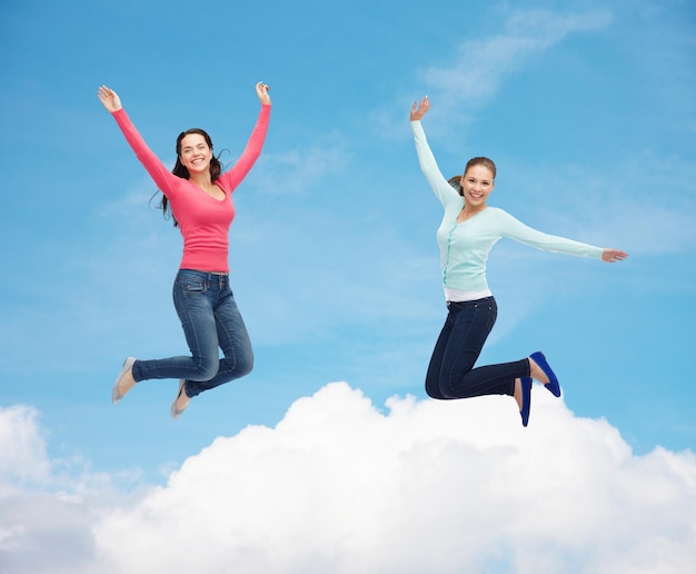
M 268 131 L 270 106 L 261 106 L 246 149 L 229 171 L 216 179 L 216 185 L 225 191 L 222 200 L 215 199 L 196 184 L 175 176 L 167 169 L 138 133 L 126 110 L 113 112 L 113 118 L 145 169 L 169 199 L 171 212 L 179 221 L 179 229 L 183 236 L 183 255 L 179 268 L 229 271 L 228 234 L 235 218 L 232 191 L 261 154 Z

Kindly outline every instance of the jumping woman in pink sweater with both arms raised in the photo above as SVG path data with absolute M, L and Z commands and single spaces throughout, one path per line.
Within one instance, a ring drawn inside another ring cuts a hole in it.
M 118 95 L 106 86 L 99 88 L 99 100 L 163 194 L 162 209 L 171 211 L 183 237 L 173 301 L 191 352 L 187 357 L 155 360 L 128 357 L 113 384 L 113 403 L 140 380 L 178 378 L 170 409 L 177 418 L 191 397 L 251 372 L 251 342 L 229 285 L 228 232 L 235 218 L 232 192 L 260 156 L 268 130 L 268 86 L 257 83 L 256 93 L 261 102 L 256 127 L 238 161 L 222 174 L 210 137 L 199 128 L 179 135 L 177 164 L 169 171 L 138 133 Z

